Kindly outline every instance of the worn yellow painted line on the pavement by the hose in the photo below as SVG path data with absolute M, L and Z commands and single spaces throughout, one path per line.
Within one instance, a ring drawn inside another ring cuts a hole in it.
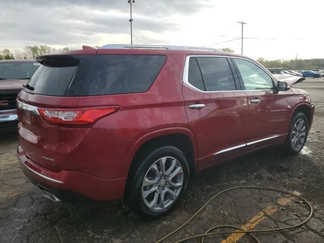
M 300 195 L 299 192 L 295 191 L 294 194 Z M 280 197 L 277 200 L 277 204 L 280 206 L 285 206 L 288 203 L 290 203 L 294 199 L 294 196 L 290 196 L 289 198 L 286 197 Z M 254 216 L 248 223 L 241 226 L 242 230 L 251 230 L 255 226 L 257 226 L 261 221 L 265 220 L 267 217 L 266 215 L 271 215 L 275 213 L 278 210 L 277 207 L 268 206 L 265 209 L 262 210 L 262 212 L 258 213 L 256 216 Z M 226 239 L 222 240 L 221 243 L 236 243 L 240 238 L 242 238 L 246 233 L 232 233 L 230 236 L 228 236 Z

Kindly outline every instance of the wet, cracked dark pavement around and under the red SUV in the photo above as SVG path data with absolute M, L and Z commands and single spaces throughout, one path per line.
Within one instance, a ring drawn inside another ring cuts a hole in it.
M 122 203 L 72 205 L 44 198 L 18 167 L 17 134 L 0 133 L 0 242 L 154 242 L 184 223 L 214 194 L 244 185 L 299 192 L 314 209 L 311 220 L 299 228 L 255 234 L 262 243 L 324 242 L 324 78 L 307 78 L 295 87 L 310 93 L 316 105 L 308 141 L 299 155 L 287 156 L 271 148 L 227 161 L 194 179 L 178 208 L 154 221 L 138 217 Z M 204 233 L 218 224 L 253 229 L 295 225 L 309 214 L 306 204 L 300 202 L 266 190 L 230 191 L 165 242 Z M 255 242 L 237 234 L 210 237 L 205 242 L 238 239 Z

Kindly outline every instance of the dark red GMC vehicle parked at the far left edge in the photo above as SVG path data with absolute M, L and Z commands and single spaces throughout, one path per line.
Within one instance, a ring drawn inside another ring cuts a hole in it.
M 0 61 L 0 129 L 17 128 L 16 98 L 39 67 L 36 60 Z

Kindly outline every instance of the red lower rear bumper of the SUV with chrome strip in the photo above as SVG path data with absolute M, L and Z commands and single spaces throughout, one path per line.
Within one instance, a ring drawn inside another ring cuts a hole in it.
M 123 198 L 126 178 L 104 180 L 73 171 L 55 172 L 29 159 L 18 146 L 19 166 L 26 177 L 36 186 L 45 189 L 60 200 L 110 201 Z

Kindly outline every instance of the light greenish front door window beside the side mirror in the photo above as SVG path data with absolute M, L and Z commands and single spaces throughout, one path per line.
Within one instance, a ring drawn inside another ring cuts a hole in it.
M 269 90 L 273 88 L 272 78 L 253 62 L 234 58 L 246 90 Z

